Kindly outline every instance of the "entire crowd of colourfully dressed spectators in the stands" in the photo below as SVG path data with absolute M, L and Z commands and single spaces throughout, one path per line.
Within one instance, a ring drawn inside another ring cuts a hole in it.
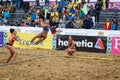
M 91 29 L 94 28 L 96 24 L 99 23 L 100 11 L 102 8 L 102 0 L 98 0 L 96 3 L 91 3 L 90 0 L 85 2 L 81 0 L 78 2 L 75 0 L 61 0 L 56 1 L 54 5 L 50 5 L 49 2 L 46 2 L 44 6 L 39 5 L 39 0 L 36 0 L 36 3 L 29 7 L 29 3 L 25 3 L 23 8 L 27 16 L 24 18 L 26 21 L 19 20 L 16 26 L 32 26 L 40 27 L 40 20 L 46 19 L 50 20 L 51 27 L 58 28 L 84 28 Z M 108 10 L 109 0 L 106 0 L 106 9 Z M 29 10 L 30 9 L 30 10 Z M 0 25 L 9 24 L 10 13 L 14 13 L 16 10 L 15 5 L 10 5 L 9 1 L 6 1 L 4 5 L 0 7 Z M 109 28 L 108 28 L 109 23 Z M 117 30 L 118 23 L 114 19 L 113 22 L 109 22 L 109 19 L 105 22 L 104 29 Z

